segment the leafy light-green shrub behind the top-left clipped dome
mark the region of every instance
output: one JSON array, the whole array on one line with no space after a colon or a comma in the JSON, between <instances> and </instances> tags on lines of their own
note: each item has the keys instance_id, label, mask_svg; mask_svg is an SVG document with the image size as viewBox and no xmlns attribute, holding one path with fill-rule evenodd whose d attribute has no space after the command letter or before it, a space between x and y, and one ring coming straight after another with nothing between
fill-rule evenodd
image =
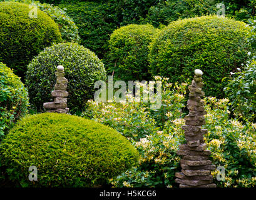
<instances>
[{"instance_id":1,"label":"leafy light-green shrub behind the top-left clipped dome","mask_svg":"<svg viewBox=\"0 0 256 200\"><path fill-rule=\"evenodd\" d=\"M60 9L58 6L52 4L41 4L39 1L33 0L11 0L14 2L23 2L37 6L41 11L46 12L59 26L61 37L66 42L79 42L80 37L78 35L78 27L74 24L73 19L66 14L64 9Z\"/></svg>"}]
</instances>

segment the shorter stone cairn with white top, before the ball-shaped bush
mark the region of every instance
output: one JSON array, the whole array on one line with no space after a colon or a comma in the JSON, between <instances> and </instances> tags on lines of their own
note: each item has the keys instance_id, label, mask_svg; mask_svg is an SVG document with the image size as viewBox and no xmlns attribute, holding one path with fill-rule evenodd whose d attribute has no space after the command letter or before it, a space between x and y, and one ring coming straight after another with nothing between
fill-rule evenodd
<instances>
[{"instance_id":1,"label":"shorter stone cairn with white top, before the ball-shaped bush","mask_svg":"<svg viewBox=\"0 0 256 200\"><path fill-rule=\"evenodd\" d=\"M57 71L55 73L57 77L56 84L54 86L54 91L51 92L51 96L53 96L54 101L44 103L44 109L46 109L47 113L68 113L69 109L67 108L67 97L68 92L67 84L68 79L64 78L64 68L63 66L58 66Z\"/></svg>"}]
</instances>

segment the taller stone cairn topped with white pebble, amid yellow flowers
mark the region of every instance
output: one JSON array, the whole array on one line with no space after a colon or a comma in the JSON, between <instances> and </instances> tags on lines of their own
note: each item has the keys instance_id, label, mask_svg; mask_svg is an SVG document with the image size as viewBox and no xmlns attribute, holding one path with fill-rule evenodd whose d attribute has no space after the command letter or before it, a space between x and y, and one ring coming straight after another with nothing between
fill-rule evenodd
<instances>
[{"instance_id":1,"label":"taller stone cairn topped with white pebble, amid yellow flowers","mask_svg":"<svg viewBox=\"0 0 256 200\"><path fill-rule=\"evenodd\" d=\"M207 144L204 143L203 134L207 134L207 129L202 129L205 124L206 114L204 101L201 98L205 95L202 92L203 79L202 71L195 70L195 76L192 85L188 86L190 91L187 103L189 114L185 116L186 125L182 126L185 131L187 144L182 144L178 155L183 156L181 159L182 172L176 173L175 182L180 187L216 187L213 183L211 171L215 170L215 165L208 160L210 151L205 150Z\"/></svg>"}]
</instances>

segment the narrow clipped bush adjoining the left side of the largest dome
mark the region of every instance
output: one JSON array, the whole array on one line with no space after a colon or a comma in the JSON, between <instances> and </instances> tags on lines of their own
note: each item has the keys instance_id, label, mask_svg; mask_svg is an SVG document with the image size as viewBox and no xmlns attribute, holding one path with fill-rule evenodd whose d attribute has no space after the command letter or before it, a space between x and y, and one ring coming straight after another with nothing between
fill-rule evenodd
<instances>
[{"instance_id":1,"label":"narrow clipped bush adjoining the left side of the largest dome","mask_svg":"<svg viewBox=\"0 0 256 200\"><path fill-rule=\"evenodd\" d=\"M125 81L149 79L148 45L158 29L131 24L116 29L110 36L111 71Z\"/></svg>"}]
</instances>

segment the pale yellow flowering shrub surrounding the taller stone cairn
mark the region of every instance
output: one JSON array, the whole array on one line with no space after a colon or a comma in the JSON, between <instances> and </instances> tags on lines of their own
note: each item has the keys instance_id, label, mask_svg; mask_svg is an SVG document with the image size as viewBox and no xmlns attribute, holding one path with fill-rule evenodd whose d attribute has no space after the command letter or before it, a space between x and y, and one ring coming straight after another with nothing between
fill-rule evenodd
<instances>
[{"instance_id":1,"label":"pale yellow flowering shrub surrounding the taller stone cairn","mask_svg":"<svg viewBox=\"0 0 256 200\"><path fill-rule=\"evenodd\" d=\"M157 77L157 79L161 79ZM148 103L88 102L83 113L118 130L130 139L140 153L139 166L111 179L115 187L177 187L175 173L180 171L180 144L185 143L182 125L186 115L187 84L168 84L162 79L162 106L149 110ZM230 119L228 99L205 98L208 129L205 141L212 151L210 159L225 168L225 181L218 187L250 187L256 184L256 124Z\"/></svg>"}]
</instances>

